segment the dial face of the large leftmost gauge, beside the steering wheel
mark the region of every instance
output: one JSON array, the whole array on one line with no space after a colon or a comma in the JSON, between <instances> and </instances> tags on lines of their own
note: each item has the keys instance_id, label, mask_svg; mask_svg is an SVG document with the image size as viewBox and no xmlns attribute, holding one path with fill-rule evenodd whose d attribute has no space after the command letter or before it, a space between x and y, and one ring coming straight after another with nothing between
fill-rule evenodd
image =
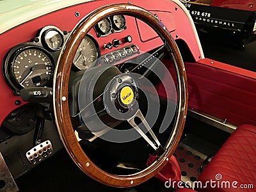
<instances>
[{"instance_id":1,"label":"dial face of the large leftmost gauge, beside the steering wheel","mask_svg":"<svg viewBox=\"0 0 256 192\"><path fill-rule=\"evenodd\" d=\"M22 47L15 51L7 61L5 76L19 88L46 86L53 75L51 56L40 47ZM13 82L14 81L14 82Z\"/></svg>"}]
</instances>

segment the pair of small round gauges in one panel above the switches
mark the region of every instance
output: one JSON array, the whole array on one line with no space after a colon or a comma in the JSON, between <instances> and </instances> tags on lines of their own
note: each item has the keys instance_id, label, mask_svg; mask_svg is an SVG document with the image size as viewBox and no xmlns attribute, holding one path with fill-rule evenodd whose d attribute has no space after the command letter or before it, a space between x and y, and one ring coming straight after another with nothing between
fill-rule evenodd
<instances>
[{"instance_id":1,"label":"pair of small round gauges in one panel above the switches","mask_svg":"<svg viewBox=\"0 0 256 192\"><path fill-rule=\"evenodd\" d=\"M122 32L126 28L127 26L124 15L114 15L103 19L94 27L98 37L108 36L111 33Z\"/></svg>"}]
</instances>

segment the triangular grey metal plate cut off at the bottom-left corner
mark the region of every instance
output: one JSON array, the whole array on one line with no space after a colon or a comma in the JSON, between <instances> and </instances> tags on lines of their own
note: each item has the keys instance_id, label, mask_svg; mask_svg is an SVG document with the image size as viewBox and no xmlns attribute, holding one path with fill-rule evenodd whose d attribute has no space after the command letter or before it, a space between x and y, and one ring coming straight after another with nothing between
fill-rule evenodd
<instances>
[{"instance_id":1,"label":"triangular grey metal plate cut off at the bottom-left corner","mask_svg":"<svg viewBox=\"0 0 256 192\"><path fill-rule=\"evenodd\" d=\"M0 152L0 192L2 191L16 192L19 189Z\"/></svg>"}]
</instances>

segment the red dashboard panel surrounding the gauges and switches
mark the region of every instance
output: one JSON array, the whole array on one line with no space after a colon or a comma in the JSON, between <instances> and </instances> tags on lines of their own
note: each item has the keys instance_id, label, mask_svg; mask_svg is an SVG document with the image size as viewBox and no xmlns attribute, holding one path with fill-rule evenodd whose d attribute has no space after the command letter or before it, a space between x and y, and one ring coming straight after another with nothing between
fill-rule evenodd
<instances>
[{"instance_id":1,"label":"red dashboard panel surrounding the gauges and switches","mask_svg":"<svg viewBox=\"0 0 256 192\"><path fill-rule=\"evenodd\" d=\"M56 12L30 20L29 22L20 24L20 26L17 26L16 28L6 31L0 35L0 61L4 61L4 57L12 47L24 42L31 42L31 40L33 40L33 38L38 34L38 31L45 26L56 26L61 31L72 31L74 26L76 26L84 15L90 13L96 8L99 8L100 6L103 6L104 4L110 3L120 3L120 1L93 1L78 4L63 10L56 10ZM156 17L159 17L159 19L162 20L175 38L181 38L188 44L195 60L202 58L190 21L186 17L185 13L178 8L177 4L171 1L163 1L161 4L134 1L134 4L143 6L143 8L146 8L147 10L150 10L150 12L156 14ZM175 14L173 14L174 12ZM123 41L118 48L113 47L111 50L103 49L104 44L112 42L113 39L123 40L125 36L128 35L132 36L132 44L138 46L141 51L147 52L161 45L161 41L157 38L156 33L152 31L152 29L148 29L148 27L141 23L140 20L136 20L132 17L125 17L125 19L127 29L120 33L112 33L106 37L97 37L94 29L90 31L92 36L97 40L102 55L129 45ZM182 25L178 25L175 20L182 22ZM186 26L186 31L184 31L183 26ZM4 118L6 118L8 114L10 114L14 109L26 104L26 102L22 101L19 95L13 95L13 90L4 80L3 74L0 75L0 86L0 99L4 100L4 102L1 102L0 104L0 124L2 124Z\"/></svg>"}]
</instances>

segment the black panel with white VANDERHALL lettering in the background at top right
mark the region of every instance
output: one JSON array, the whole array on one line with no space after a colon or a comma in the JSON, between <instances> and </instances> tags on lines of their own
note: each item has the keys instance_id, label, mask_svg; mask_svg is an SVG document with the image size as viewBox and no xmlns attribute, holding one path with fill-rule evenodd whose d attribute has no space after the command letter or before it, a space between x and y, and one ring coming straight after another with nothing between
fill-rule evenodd
<instances>
[{"instance_id":1,"label":"black panel with white VANDERHALL lettering in the background at top right","mask_svg":"<svg viewBox=\"0 0 256 192\"><path fill-rule=\"evenodd\" d=\"M210 0L180 0L188 8L195 24L232 31L255 32L255 12L211 6Z\"/></svg>"}]
</instances>

